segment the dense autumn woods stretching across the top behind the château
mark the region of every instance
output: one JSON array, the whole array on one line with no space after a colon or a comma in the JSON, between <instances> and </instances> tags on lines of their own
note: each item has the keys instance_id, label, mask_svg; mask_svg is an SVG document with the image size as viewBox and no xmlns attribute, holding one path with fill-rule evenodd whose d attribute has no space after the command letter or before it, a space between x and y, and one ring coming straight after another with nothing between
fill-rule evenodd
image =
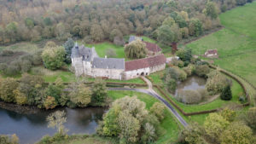
<instances>
[{"instance_id":1,"label":"dense autumn woods stretching across the top behind the ch\u00e2teau","mask_svg":"<svg viewBox=\"0 0 256 144\"><path fill-rule=\"evenodd\" d=\"M218 13L247 1L1 0L0 44L53 37L78 37L90 43L129 33L156 38L166 18L172 18L172 30L182 37L198 36L219 26ZM175 42L180 39L173 37Z\"/></svg>"}]
</instances>

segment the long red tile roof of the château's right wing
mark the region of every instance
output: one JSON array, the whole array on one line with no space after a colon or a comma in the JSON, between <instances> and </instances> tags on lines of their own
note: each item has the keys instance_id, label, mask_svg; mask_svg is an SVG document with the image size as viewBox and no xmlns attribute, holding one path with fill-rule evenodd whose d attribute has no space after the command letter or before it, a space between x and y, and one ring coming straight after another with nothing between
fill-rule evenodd
<instances>
[{"instance_id":1,"label":"long red tile roof of the ch\u00e2teau's right wing","mask_svg":"<svg viewBox=\"0 0 256 144\"><path fill-rule=\"evenodd\" d=\"M151 66L159 66L165 63L165 55L155 55L144 59L125 61L125 71L133 71Z\"/></svg>"}]
</instances>

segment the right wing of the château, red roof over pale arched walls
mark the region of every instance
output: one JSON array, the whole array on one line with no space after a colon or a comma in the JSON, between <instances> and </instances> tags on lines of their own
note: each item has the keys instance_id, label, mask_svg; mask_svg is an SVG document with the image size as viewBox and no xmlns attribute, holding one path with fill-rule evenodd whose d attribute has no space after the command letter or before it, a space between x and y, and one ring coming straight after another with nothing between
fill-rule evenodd
<instances>
[{"instance_id":1,"label":"right wing of the ch\u00e2teau, red roof over pale arched walls","mask_svg":"<svg viewBox=\"0 0 256 144\"><path fill-rule=\"evenodd\" d=\"M157 72L165 68L165 55L155 55L144 59L125 61L124 79L149 75L149 73Z\"/></svg>"}]
</instances>

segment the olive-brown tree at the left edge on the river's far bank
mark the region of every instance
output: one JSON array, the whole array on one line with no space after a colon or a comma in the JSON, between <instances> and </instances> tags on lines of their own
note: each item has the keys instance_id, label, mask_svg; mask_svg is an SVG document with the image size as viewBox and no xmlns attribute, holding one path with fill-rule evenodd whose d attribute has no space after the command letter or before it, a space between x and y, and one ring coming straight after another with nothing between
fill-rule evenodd
<instances>
[{"instance_id":1,"label":"olive-brown tree at the left edge on the river's far bank","mask_svg":"<svg viewBox=\"0 0 256 144\"><path fill-rule=\"evenodd\" d=\"M0 79L0 98L6 102L15 102L14 90L19 83L14 78Z\"/></svg>"}]
</instances>

